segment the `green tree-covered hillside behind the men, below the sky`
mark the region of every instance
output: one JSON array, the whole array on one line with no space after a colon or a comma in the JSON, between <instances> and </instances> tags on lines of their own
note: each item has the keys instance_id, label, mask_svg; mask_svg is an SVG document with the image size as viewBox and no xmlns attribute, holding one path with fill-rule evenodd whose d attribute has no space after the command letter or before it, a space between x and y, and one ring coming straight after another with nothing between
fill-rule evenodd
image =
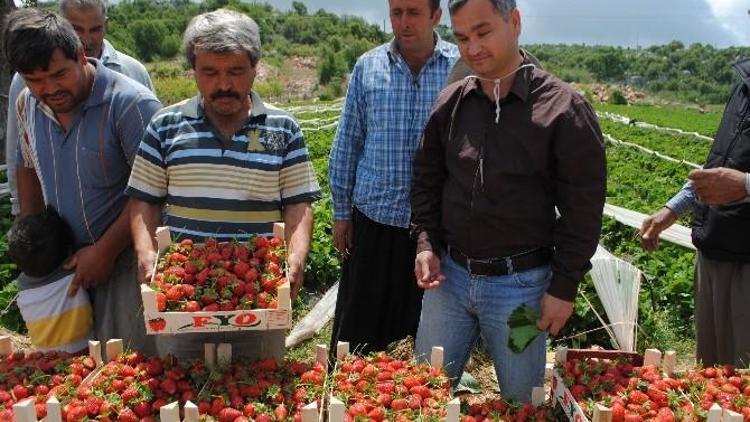
<instances>
[{"instance_id":1,"label":"green tree-covered hillside behind the men, below the sky","mask_svg":"<svg viewBox=\"0 0 750 422\"><path fill-rule=\"evenodd\" d=\"M25 4L33 5L34 0ZM56 7L55 3L40 4ZM196 14L227 7L253 17L261 29L264 60L280 66L290 56L318 58L318 77L329 96L341 95L357 58L390 34L361 17L309 11L301 1L282 11L262 1L124 0L109 8L108 39L138 59L170 60L180 53L182 32ZM453 41L450 29L438 28ZM567 82L617 83L681 101L721 104L737 75L731 63L748 47L685 46L679 41L646 48L534 44L525 46L545 68Z\"/></svg>"}]
</instances>

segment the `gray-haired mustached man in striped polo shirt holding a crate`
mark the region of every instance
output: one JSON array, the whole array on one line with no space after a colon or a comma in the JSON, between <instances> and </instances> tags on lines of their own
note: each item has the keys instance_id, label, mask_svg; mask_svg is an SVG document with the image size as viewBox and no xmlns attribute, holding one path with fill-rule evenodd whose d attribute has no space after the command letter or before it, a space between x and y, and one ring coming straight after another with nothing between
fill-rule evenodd
<instances>
[{"instance_id":1,"label":"gray-haired mustached man in striped polo shirt holding a crate","mask_svg":"<svg viewBox=\"0 0 750 422\"><path fill-rule=\"evenodd\" d=\"M260 59L258 26L220 9L193 18L183 43L200 94L151 121L126 189L139 277L150 278L163 209L173 236L196 242L270 235L273 223L283 221L294 298L312 236L311 203L320 198L320 187L295 120L252 90ZM181 334L160 339L157 347L198 357L203 343L232 343L233 355L257 357L268 354L269 344L283 353L283 335Z\"/></svg>"}]
</instances>

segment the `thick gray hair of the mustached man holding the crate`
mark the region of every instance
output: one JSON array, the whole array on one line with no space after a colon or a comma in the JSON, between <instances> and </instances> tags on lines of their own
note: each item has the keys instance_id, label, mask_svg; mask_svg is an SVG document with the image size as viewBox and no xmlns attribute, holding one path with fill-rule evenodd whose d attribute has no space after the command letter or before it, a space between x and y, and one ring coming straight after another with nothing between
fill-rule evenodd
<instances>
[{"instance_id":1,"label":"thick gray hair of the mustached man holding the crate","mask_svg":"<svg viewBox=\"0 0 750 422\"><path fill-rule=\"evenodd\" d=\"M256 65L260 60L260 30L249 16L218 9L190 20L182 47L191 67L195 67L195 50L220 54L244 52Z\"/></svg>"}]
</instances>

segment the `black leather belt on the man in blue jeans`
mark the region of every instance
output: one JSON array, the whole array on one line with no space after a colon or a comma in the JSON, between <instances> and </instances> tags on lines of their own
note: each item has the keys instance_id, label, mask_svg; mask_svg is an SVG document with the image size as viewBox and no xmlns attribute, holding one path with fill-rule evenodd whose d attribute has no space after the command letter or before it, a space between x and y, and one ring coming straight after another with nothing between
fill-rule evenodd
<instances>
[{"instance_id":1,"label":"black leather belt on the man in blue jeans","mask_svg":"<svg viewBox=\"0 0 750 422\"><path fill-rule=\"evenodd\" d=\"M552 250L538 248L504 258L472 259L456 248L448 246L448 255L472 275L508 275L547 264Z\"/></svg>"}]
</instances>

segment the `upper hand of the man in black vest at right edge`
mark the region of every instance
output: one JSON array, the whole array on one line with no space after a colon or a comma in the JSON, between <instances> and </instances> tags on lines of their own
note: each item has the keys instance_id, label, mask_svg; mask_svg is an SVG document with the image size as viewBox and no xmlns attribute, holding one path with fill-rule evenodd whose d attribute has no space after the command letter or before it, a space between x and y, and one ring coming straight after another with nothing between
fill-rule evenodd
<instances>
[{"instance_id":1,"label":"upper hand of the man in black vest at right edge","mask_svg":"<svg viewBox=\"0 0 750 422\"><path fill-rule=\"evenodd\" d=\"M693 181L697 198L707 205L728 204L747 196L745 173L719 167L708 170L693 170L688 174Z\"/></svg>"}]
</instances>

